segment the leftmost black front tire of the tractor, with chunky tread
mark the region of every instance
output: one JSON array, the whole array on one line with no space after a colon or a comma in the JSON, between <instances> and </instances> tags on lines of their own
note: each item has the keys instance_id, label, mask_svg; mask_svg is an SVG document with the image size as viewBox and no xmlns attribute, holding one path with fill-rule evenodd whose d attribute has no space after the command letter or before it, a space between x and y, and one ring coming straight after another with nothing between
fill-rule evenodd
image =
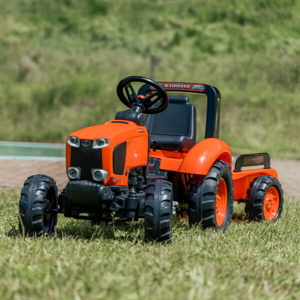
<instances>
[{"instance_id":1,"label":"leftmost black front tire of the tractor, with chunky tread","mask_svg":"<svg viewBox=\"0 0 300 300\"><path fill-rule=\"evenodd\" d=\"M57 213L46 213L58 207L55 180L47 175L32 175L25 180L19 200L19 231L24 235L50 234L57 223Z\"/></svg>"}]
</instances>

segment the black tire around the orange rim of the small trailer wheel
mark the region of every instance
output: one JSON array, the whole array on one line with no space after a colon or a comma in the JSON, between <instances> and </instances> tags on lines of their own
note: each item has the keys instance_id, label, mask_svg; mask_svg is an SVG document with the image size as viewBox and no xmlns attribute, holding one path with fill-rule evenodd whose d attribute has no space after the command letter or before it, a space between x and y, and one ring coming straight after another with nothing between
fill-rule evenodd
<instances>
[{"instance_id":1,"label":"black tire around the orange rim of the small trailer wheel","mask_svg":"<svg viewBox=\"0 0 300 300\"><path fill-rule=\"evenodd\" d=\"M277 189L279 195L279 207L276 216L271 221L276 221L280 217L283 209L283 190L281 184L272 176L262 175L256 177L247 189L245 212L249 220L265 220L263 201L266 191L271 186Z\"/></svg>"}]
</instances>

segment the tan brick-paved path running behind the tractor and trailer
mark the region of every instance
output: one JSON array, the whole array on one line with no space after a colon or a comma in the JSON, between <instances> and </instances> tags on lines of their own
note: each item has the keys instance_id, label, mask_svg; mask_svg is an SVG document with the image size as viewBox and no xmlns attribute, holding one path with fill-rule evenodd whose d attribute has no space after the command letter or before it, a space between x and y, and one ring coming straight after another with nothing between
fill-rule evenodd
<instances>
[{"instance_id":1,"label":"tan brick-paved path running behind the tractor and trailer","mask_svg":"<svg viewBox=\"0 0 300 300\"><path fill-rule=\"evenodd\" d=\"M300 198L300 161L273 158L271 166L278 172L284 196ZM65 164L61 160L0 160L0 187L21 188L24 180L32 174L52 176L59 189L67 182Z\"/></svg>"}]
</instances>

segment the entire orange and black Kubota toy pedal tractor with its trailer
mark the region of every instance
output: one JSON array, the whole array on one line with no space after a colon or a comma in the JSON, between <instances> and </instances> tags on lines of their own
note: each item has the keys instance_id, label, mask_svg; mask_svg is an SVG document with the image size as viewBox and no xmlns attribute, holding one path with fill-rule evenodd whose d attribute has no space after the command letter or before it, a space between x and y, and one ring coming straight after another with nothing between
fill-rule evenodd
<instances>
[{"instance_id":1,"label":"entire orange and black Kubota toy pedal tractor with its trailer","mask_svg":"<svg viewBox=\"0 0 300 300\"><path fill-rule=\"evenodd\" d=\"M142 83L137 93L132 82ZM196 111L188 97L166 91L206 94L203 140L195 142ZM57 213L93 222L109 221L113 213L122 221L144 218L145 239L163 241L171 238L172 217L185 207L190 224L226 228L233 200L246 202L250 219L280 216L282 189L267 153L240 155L231 172L231 150L218 139L217 88L130 76L118 83L117 95L130 109L68 135L69 181L59 196L50 176L24 182L19 228L25 234L51 233ZM264 167L241 170L252 165Z\"/></svg>"}]
</instances>

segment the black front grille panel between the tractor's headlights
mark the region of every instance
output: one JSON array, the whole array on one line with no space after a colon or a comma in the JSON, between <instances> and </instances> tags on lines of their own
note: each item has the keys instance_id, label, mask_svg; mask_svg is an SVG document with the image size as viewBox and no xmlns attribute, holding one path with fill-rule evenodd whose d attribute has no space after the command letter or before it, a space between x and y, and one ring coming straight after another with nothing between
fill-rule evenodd
<instances>
[{"instance_id":1,"label":"black front grille panel between the tractor's headlights","mask_svg":"<svg viewBox=\"0 0 300 300\"><path fill-rule=\"evenodd\" d=\"M88 146L83 146L83 141L89 141ZM78 148L71 147L70 166L79 166L81 169L80 179L92 180L91 169L102 168L102 149L92 148L92 139L80 139ZM85 142L86 144L86 142Z\"/></svg>"}]
</instances>

